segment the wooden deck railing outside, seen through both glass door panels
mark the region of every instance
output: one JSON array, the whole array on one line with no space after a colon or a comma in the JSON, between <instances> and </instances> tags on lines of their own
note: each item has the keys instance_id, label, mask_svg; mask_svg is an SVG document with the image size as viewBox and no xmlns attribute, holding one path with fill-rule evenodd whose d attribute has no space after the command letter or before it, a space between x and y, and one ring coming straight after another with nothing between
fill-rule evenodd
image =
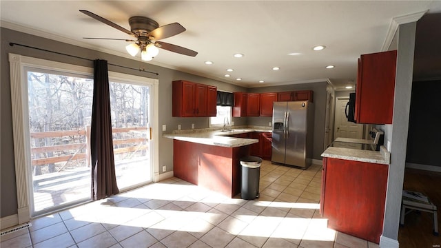
<instances>
[{"instance_id":1,"label":"wooden deck railing outside, seen through both glass door panels","mask_svg":"<svg viewBox=\"0 0 441 248\"><path fill-rule=\"evenodd\" d=\"M147 127L115 127L112 128L112 133L123 132L146 132ZM32 147L31 154L48 154L48 152L61 152L65 150L74 150L74 154L64 156L52 156L45 158L33 158L32 165L48 165L51 163L68 163L72 160L85 159L87 165L90 166L90 126L84 130L70 130L70 131L53 131L53 132L31 132L30 138L61 138L65 136L85 136L85 143L72 143L67 145L50 145L45 147ZM130 143L137 143L138 145L131 145L128 147L114 149L114 154L122 154L125 152L138 152L147 150L148 145L143 144L146 138L121 138L113 141L114 145L124 145ZM86 148L86 152L81 152Z\"/></svg>"}]
</instances>

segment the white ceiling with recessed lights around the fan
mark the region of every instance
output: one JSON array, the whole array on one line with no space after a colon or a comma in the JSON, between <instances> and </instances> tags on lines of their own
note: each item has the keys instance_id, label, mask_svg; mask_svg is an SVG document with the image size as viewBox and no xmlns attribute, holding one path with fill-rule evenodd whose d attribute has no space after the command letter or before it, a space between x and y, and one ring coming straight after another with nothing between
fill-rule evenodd
<instances>
[{"instance_id":1,"label":"white ceiling with recessed lights around the fan","mask_svg":"<svg viewBox=\"0 0 441 248\"><path fill-rule=\"evenodd\" d=\"M161 50L150 63L245 87L326 80L343 87L356 81L360 54L380 52L389 45L394 18L441 10L441 1L1 0L0 4L2 27L136 60L141 59L125 52L125 41L82 39L131 37L79 10L94 12L127 30L127 20L136 15L159 25L181 23L187 31L163 41L198 55ZM327 48L316 52L314 45ZM234 58L237 52L245 56ZM293 52L298 55L288 55ZM327 65L335 68L325 69ZM280 70L271 70L274 66ZM229 78L224 76L227 68L234 69ZM237 77L243 80L236 81Z\"/></svg>"}]
</instances>

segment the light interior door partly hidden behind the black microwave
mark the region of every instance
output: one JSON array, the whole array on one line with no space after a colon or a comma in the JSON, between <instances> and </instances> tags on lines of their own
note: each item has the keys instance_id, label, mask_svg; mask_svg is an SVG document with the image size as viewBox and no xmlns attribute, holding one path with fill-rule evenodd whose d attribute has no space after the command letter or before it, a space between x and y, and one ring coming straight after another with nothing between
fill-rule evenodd
<instances>
[{"instance_id":1,"label":"light interior door partly hidden behind the black microwave","mask_svg":"<svg viewBox=\"0 0 441 248\"><path fill-rule=\"evenodd\" d=\"M349 101L349 97L338 98L336 101L336 123L334 129L334 140L338 137L342 138L362 138L363 135L363 125L356 124L347 121L345 115L346 104ZM347 148L358 148L358 144L350 143L334 143L336 147L347 147Z\"/></svg>"}]
</instances>

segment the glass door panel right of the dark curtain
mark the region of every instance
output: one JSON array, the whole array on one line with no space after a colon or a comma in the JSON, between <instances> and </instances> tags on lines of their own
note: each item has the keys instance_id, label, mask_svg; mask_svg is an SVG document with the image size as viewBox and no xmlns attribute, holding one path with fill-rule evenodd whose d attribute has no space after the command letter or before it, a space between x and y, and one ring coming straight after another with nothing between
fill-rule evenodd
<instances>
[{"instance_id":1,"label":"glass door panel right of the dark curtain","mask_svg":"<svg viewBox=\"0 0 441 248\"><path fill-rule=\"evenodd\" d=\"M116 183L120 190L152 181L152 87L110 83Z\"/></svg>"}]
</instances>

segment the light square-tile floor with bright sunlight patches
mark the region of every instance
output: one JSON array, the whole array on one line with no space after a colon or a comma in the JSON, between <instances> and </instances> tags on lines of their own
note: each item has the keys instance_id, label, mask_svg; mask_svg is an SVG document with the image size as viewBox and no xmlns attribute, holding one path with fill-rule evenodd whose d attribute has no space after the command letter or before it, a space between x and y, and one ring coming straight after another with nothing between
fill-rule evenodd
<instances>
[{"instance_id":1,"label":"light square-tile floor with bright sunlight patches","mask_svg":"<svg viewBox=\"0 0 441 248\"><path fill-rule=\"evenodd\" d=\"M32 220L0 247L378 247L327 228L321 166L260 169L260 197L227 198L169 178Z\"/></svg>"}]
</instances>

